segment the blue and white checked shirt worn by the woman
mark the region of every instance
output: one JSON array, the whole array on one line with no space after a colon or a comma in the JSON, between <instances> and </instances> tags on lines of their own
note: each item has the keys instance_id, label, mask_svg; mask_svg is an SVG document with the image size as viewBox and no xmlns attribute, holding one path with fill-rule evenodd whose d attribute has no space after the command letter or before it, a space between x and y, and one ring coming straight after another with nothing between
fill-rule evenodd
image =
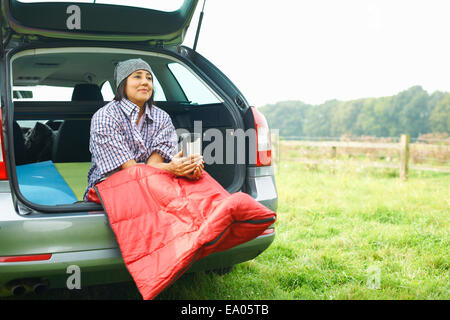
<instances>
[{"instance_id":1,"label":"blue and white checked shirt worn by the woman","mask_svg":"<svg viewBox=\"0 0 450 320\"><path fill-rule=\"evenodd\" d=\"M129 160L146 162L153 151L170 162L177 148L177 134L170 116L160 108L146 106L142 127L136 125L139 107L127 99L111 101L91 120L89 150L92 154L88 190Z\"/></svg>"}]
</instances>

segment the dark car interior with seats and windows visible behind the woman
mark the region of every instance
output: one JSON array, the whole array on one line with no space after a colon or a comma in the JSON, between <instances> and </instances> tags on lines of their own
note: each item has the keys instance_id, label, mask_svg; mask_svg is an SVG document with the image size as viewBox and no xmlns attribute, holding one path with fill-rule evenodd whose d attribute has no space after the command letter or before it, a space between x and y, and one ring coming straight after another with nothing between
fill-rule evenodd
<instances>
[{"instance_id":1,"label":"dark car interior with seats and windows visible behind the woman","mask_svg":"<svg viewBox=\"0 0 450 320\"><path fill-rule=\"evenodd\" d=\"M32 99L13 101L15 163L51 161L57 167L84 163L88 168L91 117L113 98L115 64L133 56L120 50L96 53L92 48L54 51L23 52L13 58L13 89L33 92ZM194 132L195 121L201 121L202 134L214 128L226 137L227 129L235 129L229 106L187 65L169 55L142 52L137 56L152 67L155 105L170 115L176 129ZM203 141L203 149L208 143ZM224 158L226 152L224 147ZM233 164L207 163L205 170L224 188L233 182Z\"/></svg>"}]
</instances>

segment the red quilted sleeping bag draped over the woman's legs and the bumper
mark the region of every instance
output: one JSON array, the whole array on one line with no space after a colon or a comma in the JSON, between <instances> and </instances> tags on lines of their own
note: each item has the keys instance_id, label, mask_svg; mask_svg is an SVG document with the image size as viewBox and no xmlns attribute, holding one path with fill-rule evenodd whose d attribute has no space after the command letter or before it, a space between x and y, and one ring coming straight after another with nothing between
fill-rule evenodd
<instances>
[{"instance_id":1,"label":"red quilted sleeping bag draped over the woman's legs and the bumper","mask_svg":"<svg viewBox=\"0 0 450 320\"><path fill-rule=\"evenodd\" d=\"M196 260L256 238L276 219L248 194L228 193L206 171L189 180L139 164L95 189L88 200L103 205L144 299L153 299Z\"/></svg>"}]
</instances>

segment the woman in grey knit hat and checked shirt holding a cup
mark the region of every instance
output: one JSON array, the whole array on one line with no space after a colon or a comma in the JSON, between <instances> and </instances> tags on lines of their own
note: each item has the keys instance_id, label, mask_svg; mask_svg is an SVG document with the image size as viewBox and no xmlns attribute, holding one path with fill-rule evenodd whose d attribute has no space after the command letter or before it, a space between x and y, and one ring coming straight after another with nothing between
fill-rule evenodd
<instances>
[{"instance_id":1,"label":"woman in grey knit hat and checked shirt holding a cup","mask_svg":"<svg viewBox=\"0 0 450 320\"><path fill-rule=\"evenodd\" d=\"M175 156L177 135L169 115L153 105L153 75L142 59L119 62L114 70L114 100L99 109L91 120L89 149L92 154L88 190L109 175L137 163L146 163L176 176L199 179L200 155Z\"/></svg>"}]
</instances>

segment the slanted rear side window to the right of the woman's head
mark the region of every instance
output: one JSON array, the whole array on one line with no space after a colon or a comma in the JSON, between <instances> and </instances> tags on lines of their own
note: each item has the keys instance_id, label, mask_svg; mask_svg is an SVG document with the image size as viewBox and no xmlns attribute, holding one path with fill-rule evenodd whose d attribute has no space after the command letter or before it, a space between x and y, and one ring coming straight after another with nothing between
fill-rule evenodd
<instances>
[{"instance_id":1,"label":"slanted rear side window to the right of the woman's head","mask_svg":"<svg viewBox=\"0 0 450 320\"><path fill-rule=\"evenodd\" d=\"M202 105L222 102L210 88L185 66L174 62L169 63L168 68L178 81L190 103Z\"/></svg>"}]
</instances>

